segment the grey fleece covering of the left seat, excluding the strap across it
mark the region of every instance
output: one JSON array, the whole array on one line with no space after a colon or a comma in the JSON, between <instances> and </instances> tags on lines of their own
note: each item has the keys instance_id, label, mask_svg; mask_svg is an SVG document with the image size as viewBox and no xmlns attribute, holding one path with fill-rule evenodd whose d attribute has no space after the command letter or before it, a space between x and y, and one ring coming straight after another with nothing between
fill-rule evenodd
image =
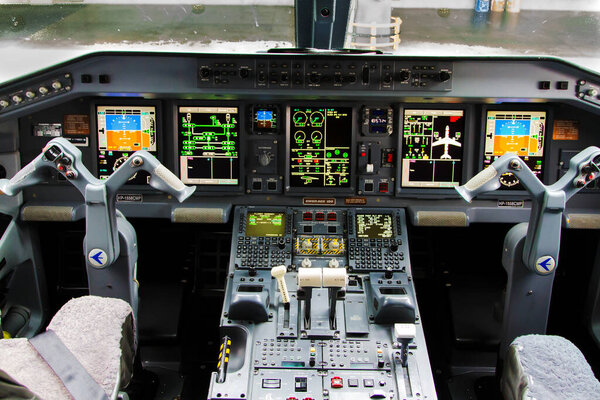
<instances>
[{"instance_id":1,"label":"grey fleece covering of the left seat, excluding the strap across it","mask_svg":"<svg viewBox=\"0 0 600 400\"><path fill-rule=\"evenodd\" d=\"M132 310L125 301L97 296L72 299L47 329L56 333L109 398L127 386L136 342ZM0 340L0 370L40 399L72 399L27 339ZM4 384L3 389L0 379L0 398L9 386Z\"/></svg>"}]
</instances>

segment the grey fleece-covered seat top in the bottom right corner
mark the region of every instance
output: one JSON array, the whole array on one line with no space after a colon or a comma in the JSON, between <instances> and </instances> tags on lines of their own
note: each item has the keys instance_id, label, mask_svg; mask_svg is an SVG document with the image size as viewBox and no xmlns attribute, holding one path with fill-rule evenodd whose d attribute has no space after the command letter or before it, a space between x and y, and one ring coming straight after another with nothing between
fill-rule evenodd
<instances>
[{"instance_id":1,"label":"grey fleece-covered seat top in the bottom right corner","mask_svg":"<svg viewBox=\"0 0 600 400\"><path fill-rule=\"evenodd\" d=\"M506 400L600 400L600 382L567 339L526 335L509 347L502 393Z\"/></svg>"}]
</instances>

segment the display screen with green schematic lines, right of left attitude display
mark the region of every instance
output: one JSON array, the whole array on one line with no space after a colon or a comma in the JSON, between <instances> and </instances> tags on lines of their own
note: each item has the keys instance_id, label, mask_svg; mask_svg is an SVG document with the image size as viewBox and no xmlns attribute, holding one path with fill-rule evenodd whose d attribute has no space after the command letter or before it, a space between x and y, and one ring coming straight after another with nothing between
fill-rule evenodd
<instances>
[{"instance_id":1,"label":"display screen with green schematic lines, right of left attitude display","mask_svg":"<svg viewBox=\"0 0 600 400\"><path fill-rule=\"evenodd\" d=\"M237 107L179 107L179 167L183 183L237 185Z\"/></svg>"}]
</instances>

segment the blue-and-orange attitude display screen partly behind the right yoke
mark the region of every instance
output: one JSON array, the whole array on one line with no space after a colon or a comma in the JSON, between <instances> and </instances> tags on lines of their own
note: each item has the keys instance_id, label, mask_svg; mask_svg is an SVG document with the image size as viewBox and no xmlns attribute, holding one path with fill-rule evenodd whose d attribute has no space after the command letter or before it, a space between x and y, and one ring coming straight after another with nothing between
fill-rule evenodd
<instances>
[{"instance_id":1,"label":"blue-and-orange attitude display screen partly behind the right yoke","mask_svg":"<svg viewBox=\"0 0 600 400\"><path fill-rule=\"evenodd\" d=\"M514 153L541 179L545 132L545 111L488 111L483 166L488 167L506 153ZM500 183L504 189L524 189L510 172L500 176Z\"/></svg>"}]
</instances>

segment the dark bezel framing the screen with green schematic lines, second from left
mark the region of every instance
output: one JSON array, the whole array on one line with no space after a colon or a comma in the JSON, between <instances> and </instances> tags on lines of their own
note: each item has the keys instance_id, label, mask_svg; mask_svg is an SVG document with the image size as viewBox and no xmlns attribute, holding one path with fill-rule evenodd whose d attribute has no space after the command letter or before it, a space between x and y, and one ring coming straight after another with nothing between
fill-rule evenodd
<instances>
[{"instance_id":1,"label":"dark bezel framing the screen with green schematic lines, second from left","mask_svg":"<svg viewBox=\"0 0 600 400\"><path fill-rule=\"evenodd\" d=\"M179 125L177 119L179 118L179 107L225 107L223 104L227 103L227 107L237 107L239 120L239 152L238 152L238 183L236 185L201 185L196 183L185 183L189 186L196 186L202 188L202 192L229 192L231 194L239 194L244 188L244 160L245 160L245 149L246 139L244 134L245 121L245 110L244 103L239 101L220 101L220 102L207 102L207 101L178 101L173 104L173 154L174 154L174 168L175 175L181 179L181 162L179 159ZM196 191L195 195L198 195L199 191Z\"/></svg>"}]
</instances>

